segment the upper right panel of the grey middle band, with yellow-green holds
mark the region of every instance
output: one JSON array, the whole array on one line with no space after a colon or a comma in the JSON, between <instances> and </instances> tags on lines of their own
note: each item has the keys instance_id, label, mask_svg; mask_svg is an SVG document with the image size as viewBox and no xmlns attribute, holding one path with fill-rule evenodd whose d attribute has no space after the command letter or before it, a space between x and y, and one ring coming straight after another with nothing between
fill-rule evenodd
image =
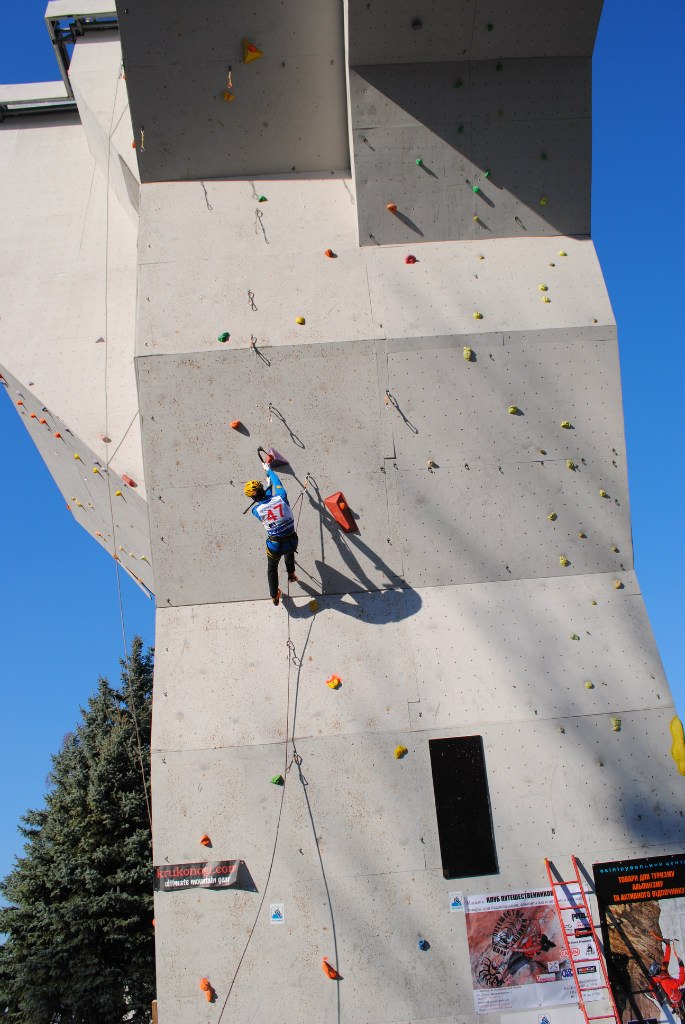
<instances>
[{"instance_id":1,"label":"upper right panel of the grey middle band, with yellow-green holds","mask_svg":"<svg viewBox=\"0 0 685 1024\"><path fill-rule=\"evenodd\" d=\"M414 427L386 407L401 469L423 469L428 458L449 468L473 459L580 463L625 454L614 342L502 346L495 336L474 342L467 361L464 339L440 341L449 345L415 339L414 351L392 351L387 342L390 392ZM509 413L514 406L518 415Z\"/></svg>"}]
</instances>

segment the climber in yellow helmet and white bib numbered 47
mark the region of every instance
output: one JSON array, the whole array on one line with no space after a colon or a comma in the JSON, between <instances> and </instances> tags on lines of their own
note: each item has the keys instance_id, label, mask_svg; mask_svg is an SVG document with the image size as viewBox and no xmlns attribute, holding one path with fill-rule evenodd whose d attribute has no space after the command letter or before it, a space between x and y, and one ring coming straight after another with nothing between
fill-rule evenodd
<instances>
[{"instance_id":1,"label":"climber in yellow helmet and white bib numbered 47","mask_svg":"<svg viewBox=\"0 0 685 1024\"><path fill-rule=\"evenodd\" d=\"M295 575L297 534L286 488L269 466L269 461L267 457L267 461L262 463L268 485L264 487L260 480L248 480L244 490L254 502L252 514L266 529L266 577L271 600L274 604L279 604L281 601L279 562L282 555L286 559L289 583L297 582Z\"/></svg>"}]
</instances>

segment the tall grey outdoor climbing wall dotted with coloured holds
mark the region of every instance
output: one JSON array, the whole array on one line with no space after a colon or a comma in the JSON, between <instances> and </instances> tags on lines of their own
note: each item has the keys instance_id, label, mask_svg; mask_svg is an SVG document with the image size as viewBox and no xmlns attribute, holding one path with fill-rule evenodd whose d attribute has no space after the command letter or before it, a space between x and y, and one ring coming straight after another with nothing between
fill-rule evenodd
<instances>
[{"instance_id":1,"label":"tall grey outdoor climbing wall dotted with coloured holds","mask_svg":"<svg viewBox=\"0 0 685 1024\"><path fill-rule=\"evenodd\" d=\"M154 564L154 858L178 882L156 892L160 1024L581 1024L572 996L475 1013L463 898L545 891L545 857L565 874L682 844L590 238L600 7L153 0L119 7L112 106L114 50L75 60L105 172L108 110L130 104L137 175L111 182L99 252L111 323L135 295L115 404L140 471L102 473L91 361L63 385L94 410L79 434L35 348L5 384L75 515L104 523L114 487L113 553L147 587ZM92 360L87 310L62 347ZM259 445L300 539L275 607L243 492ZM482 766L432 758L469 737ZM180 884L236 861L230 885Z\"/></svg>"}]
</instances>

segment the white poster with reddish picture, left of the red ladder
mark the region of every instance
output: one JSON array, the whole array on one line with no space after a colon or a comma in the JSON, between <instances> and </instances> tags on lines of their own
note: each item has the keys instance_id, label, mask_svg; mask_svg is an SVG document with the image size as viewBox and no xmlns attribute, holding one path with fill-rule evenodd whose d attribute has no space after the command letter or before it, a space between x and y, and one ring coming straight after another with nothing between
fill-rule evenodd
<instances>
[{"instance_id":1,"label":"white poster with reddish picture, left of the red ladder","mask_svg":"<svg viewBox=\"0 0 685 1024\"><path fill-rule=\"evenodd\" d=\"M477 1014L577 1001L549 889L468 896L465 905Z\"/></svg>"}]
</instances>

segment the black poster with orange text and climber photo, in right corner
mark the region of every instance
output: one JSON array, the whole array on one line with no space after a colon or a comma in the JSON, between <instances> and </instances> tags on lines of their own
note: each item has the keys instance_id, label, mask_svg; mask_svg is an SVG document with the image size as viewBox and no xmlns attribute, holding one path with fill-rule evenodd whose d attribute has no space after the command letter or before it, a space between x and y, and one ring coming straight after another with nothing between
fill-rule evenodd
<instances>
[{"instance_id":1,"label":"black poster with orange text and climber photo, in right corner","mask_svg":"<svg viewBox=\"0 0 685 1024\"><path fill-rule=\"evenodd\" d=\"M593 864L624 1024L685 1021L685 854Z\"/></svg>"}]
</instances>

